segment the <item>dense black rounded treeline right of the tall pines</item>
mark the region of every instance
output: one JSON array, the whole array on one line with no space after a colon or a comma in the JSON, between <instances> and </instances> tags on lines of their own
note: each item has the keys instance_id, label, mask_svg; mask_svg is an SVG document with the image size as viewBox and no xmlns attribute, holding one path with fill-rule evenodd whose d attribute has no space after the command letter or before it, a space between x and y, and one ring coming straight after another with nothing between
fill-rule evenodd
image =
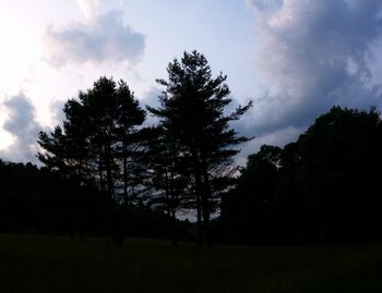
<instances>
[{"instance_id":1,"label":"dense black rounded treeline right of the tall pines","mask_svg":"<svg viewBox=\"0 0 382 293\"><path fill-rule=\"evenodd\" d=\"M381 150L380 113L339 107L319 117L297 142L262 146L224 197L217 225L225 241L381 241Z\"/></svg>"}]
</instances>

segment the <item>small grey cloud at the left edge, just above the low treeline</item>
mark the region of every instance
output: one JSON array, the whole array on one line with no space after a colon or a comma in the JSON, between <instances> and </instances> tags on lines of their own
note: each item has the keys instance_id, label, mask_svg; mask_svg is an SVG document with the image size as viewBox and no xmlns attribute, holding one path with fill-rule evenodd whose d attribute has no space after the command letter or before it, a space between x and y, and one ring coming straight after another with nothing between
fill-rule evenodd
<instances>
[{"instance_id":1,"label":"small grey cloud at the left edge, just above the low treeline","mask_svg":"<svg viewBox=\"0 0 382 293\"><path fill-rule=\"evenodd\" d=\"M37 162L36 139L43 127L36 121L31 100L24 94L19 94L7 99L2 107L8 112L2 129L12 134L14 141L5 150L0 151L0 157L11 161Z\"/></svg>"}]
</instances>

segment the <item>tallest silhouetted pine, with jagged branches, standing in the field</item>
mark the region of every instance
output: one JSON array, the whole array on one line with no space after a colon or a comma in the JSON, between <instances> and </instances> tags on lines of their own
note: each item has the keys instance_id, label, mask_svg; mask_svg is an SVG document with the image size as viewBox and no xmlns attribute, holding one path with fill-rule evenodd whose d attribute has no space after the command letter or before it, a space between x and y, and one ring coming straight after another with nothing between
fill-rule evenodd
<instances>
[{"instance_id":1,"label":"tallest silhouetted pine, with jagged branches, standing in the field","mask_svg":"<svg viewBox=\"0 0 382 293\"><path fill-rule=\"evenodd\" d=\"M237 136L229 122L240 119L251 103L225 114L231 102L225 84L227 77L220 73L213 78L206 58L196 51L184 52L180 61L175 59L167 72L168 81L157 80L165 87L159 96L160 107L148 107L148 111L159 118L160 127L181 146L182 156L189 158L200 241L210 244L210 217L215 199L227 188L224 180L216 179L224 176L222 169L228 168L239 152L232 146L248 141Z\"/></svg>"}]
</instances>

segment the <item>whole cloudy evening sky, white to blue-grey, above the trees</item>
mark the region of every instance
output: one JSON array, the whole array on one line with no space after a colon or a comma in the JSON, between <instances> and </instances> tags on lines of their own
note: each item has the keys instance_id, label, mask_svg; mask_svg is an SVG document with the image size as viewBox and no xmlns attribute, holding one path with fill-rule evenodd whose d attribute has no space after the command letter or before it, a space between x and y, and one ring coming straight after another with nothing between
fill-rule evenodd
<instances>
[{"instance_id":1,"label":"whole cloudy evening sky, white to blue-grey, above the trees","mask_svg":"<svg viewBox=\"0 0 382 293\"><path fill-rule=\"evenodd\" d=\"M100 75L153 103L166 66L196 49L228 75L235 127L295 139L334 105L381 109L381 0L1 0L0 158L34 161L39 130Z\"/></svg>"}]
</instances>

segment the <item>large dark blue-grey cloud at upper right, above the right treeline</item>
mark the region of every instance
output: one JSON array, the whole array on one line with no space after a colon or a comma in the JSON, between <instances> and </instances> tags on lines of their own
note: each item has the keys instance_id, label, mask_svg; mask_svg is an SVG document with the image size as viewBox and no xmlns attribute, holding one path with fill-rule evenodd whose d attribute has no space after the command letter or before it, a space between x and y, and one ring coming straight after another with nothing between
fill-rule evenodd
<instances>
[{"instance_id":1,"label":"large dark blue-grey cloud at upper right, above the right treeline","mask_svg":"<svg viewBox=\"0 0 382 293\"><path fill-rule=\"evenodd\" d=\"M305 130L334 105L381 107L382 78L372 70L381 54L380 0L247 2L261 41L255 66L268 89L241 129L276 142L273 134Z\"/></svg>"}]
</instances>

